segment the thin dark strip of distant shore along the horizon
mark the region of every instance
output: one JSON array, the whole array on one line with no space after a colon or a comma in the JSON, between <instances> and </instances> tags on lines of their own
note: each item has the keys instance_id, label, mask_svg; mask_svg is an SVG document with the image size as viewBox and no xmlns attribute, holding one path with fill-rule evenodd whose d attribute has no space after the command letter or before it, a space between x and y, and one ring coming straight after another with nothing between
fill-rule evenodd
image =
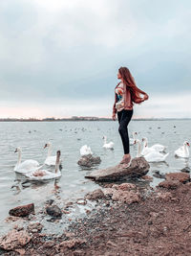
<instances>
[{"instance_id":1,"label":"thin dark strip of distant shore along the horizon","mask_svg":"<svg viewBox=\"0 0 191 256\"><path fill-rule=\"evenodd\" d=\"M132 121L167 121L167 120L191 120L191 118L133 118ZM112 118L99 117L72 117L72 118L0 118L0 122L78 122L78 121L113 121Z\"/></svg>"}]
</instances>

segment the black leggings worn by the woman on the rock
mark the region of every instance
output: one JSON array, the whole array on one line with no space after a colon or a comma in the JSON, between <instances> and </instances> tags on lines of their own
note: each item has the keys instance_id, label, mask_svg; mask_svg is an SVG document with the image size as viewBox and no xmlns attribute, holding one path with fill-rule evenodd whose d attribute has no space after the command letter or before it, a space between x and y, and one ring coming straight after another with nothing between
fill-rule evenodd
<instances>
[{"instance_id":1,"label":"black leggings worn by the woman on the rock","mask_svg":"<svg viewBox=\"0 0 191 256\"><path fill-rule=\"evenodd\" d=\"M119 124L118 132L122 140L124 153L129 153L129 134L128 134L127 126L131 121L132 115L133 115L133 109L132 110L122 109L121 111L117 112L117 118L118 118L118 124Z\"/></svg>"}]
</instances>

